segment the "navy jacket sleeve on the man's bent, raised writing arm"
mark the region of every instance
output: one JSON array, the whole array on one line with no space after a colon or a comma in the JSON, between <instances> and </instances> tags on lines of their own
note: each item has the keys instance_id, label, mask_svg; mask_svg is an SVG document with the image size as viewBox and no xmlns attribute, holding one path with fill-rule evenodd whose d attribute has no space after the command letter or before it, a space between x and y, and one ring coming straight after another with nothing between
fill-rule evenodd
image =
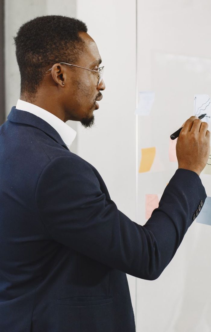
<instances>
[{"instance_id":1,"label":"navy jacket sleeve on the man's bent, raised writing arm","mask_svg":"<svg viewBox=\"0 0 211 332\"><path fill-rule=\"evenodd\" d=\"M106 199L89 164L70 156L44 168L35 198L55 241L111 268L155 280L174 257L206 193L195 172L177 169L142 226Z\"/></svg>"}]
</instances>

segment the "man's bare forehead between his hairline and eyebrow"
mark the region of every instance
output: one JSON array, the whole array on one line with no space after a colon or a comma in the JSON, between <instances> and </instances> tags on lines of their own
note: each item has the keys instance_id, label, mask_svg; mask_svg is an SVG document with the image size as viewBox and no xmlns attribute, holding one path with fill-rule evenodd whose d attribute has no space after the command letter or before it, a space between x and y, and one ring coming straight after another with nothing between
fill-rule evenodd
<instances>
[{"instance_id":1,"label":"man's bare forehead between his hairline and eyebrow","mask_svg":"<svg viewBox=\"0 0 211 332\"><path fill-rule=\"evenodd\" d=\"M96 42L86 32L79 32L78 34L85 42L85 49L81 56L81 60L86 61L89 65L92 62L101 58Z\"/></svg>"}]
</instances>

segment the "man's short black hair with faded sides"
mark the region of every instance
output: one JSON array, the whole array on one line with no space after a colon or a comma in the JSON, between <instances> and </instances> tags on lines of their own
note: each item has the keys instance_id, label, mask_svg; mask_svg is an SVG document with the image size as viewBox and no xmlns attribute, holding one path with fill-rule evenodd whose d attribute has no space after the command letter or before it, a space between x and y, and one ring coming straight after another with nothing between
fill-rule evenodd
<instances>
[{"instance_id":1,"label":"man's short black hair with faded sides","mask_svg":"<svg viewBox=\"0 0 211 332\"><path fill-rule=\"evenodd\" d=\"M19 28L13 39L21 74L21 94L35 96L45 71L54 63L77 62L84 50L84 41L78 32L87 32L86 24L61 15L38 16Z\"/></svg>"}]
</instances>

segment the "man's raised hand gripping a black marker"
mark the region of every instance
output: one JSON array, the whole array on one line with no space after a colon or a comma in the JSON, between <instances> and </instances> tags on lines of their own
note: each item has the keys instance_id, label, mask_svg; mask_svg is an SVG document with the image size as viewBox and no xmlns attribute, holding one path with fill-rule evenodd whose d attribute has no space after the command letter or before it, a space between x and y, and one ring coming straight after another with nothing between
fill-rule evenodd
<instances>
[{"instance_id":1,"label":"man's raised hand gripping a black marker","mask_svg":"<svg viewBox=\"0 0 211 332\"><path fill-rule=\"evenodd\" d=\"M200 175L210 155L208 124L192 116L181 127L176 142L178 168L189 169Z\"/></svg>"}]
</instances>

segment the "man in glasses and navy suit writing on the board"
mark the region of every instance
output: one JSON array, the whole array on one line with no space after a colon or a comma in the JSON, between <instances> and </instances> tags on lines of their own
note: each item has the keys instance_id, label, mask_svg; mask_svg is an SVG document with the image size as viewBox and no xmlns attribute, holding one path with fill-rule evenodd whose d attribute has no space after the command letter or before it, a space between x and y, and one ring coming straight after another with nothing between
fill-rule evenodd
<instances>
[{"instance_id":1,"label":"man in glasses and navy suit writing on the board","mask_svg":"<svg viewBox=\"0 0 211 332\"><path fill-rule=\"evenodd\" d=\"M134 332L126 273L157 279L200 213L208 126L185 122L178 169L141 226L69 149L76 132L65 122L91 127L105 89L86 25L37 17L14 40L21 95L0 127L0 330Z\"/></svg>"}]
</instances>

